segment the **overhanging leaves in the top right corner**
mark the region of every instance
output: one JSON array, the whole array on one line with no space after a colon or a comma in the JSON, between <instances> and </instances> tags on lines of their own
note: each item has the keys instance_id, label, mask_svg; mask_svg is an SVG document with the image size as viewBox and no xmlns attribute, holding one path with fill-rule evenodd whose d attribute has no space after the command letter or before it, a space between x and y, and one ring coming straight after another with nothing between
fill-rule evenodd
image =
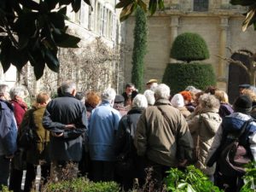
<instances>
[{"instance_id":1,"label":"overhanging leaves in the top right corner","mask_svg":"<svg viewBox=\"0 0 256 192\"><path fill-rule=\"evenodd\" d=\"M233 5L247 6L246 19L242 22L242 31L245 32L248 26L253 25L256 30L256 2L254 0L230 0Z\"/></svg>"}]
</instances>

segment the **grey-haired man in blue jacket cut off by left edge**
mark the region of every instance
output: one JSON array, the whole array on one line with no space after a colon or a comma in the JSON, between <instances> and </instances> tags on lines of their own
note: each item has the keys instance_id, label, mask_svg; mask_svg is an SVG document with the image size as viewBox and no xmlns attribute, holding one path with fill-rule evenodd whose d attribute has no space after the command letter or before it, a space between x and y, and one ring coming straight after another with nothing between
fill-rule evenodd
<instances>
[{"instance_id":1,"label":"grey-haired man in blue jacket cut off by left edge","mask_svg":"<svg viewBox=\"0 0 256 192\"><path fill-rule=\"evenodd\" d=\"M7 102L9 100L9 87L0 84L0 191L2 185L7 186L9 177L10 160L16 151L17 125L14 109Z\"/></svg>"}]
</instances>

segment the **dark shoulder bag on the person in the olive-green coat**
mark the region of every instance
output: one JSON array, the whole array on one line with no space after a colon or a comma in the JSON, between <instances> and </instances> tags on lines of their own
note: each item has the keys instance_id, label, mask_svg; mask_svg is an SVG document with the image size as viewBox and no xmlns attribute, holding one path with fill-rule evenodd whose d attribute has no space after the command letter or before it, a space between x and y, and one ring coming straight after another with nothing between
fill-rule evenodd
<instances>
[{"instance_id":1,"label":"dark shoulder bag on the person in the olive-green coat","mask_svg":"<svg viewBox=\"0 0 256 192\"><path fill-rule=\"evenodd\" d=\"M28 114L28 123L24 125L20 130L20 137L18 145L20 148L29 149L36 143L36 135L34 133L33 114L34 110L31 110Z\"/></svg>"}]
</instances>

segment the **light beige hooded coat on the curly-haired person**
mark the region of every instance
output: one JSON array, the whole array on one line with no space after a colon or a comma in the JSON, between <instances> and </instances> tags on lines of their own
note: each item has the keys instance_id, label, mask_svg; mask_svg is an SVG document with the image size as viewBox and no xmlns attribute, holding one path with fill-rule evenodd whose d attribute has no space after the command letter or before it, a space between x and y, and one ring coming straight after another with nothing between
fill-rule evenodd
<instances>
[{"instance_id":1,"label":"light beige hooded coat on the curly-haired person","mask_svg":"<svg viewBox=\"0 0 256 192\"><path fill-rule=\"evenodd\" d=\"M195 153L198 155L195 166L207 175L213 175L215 172L215 166L206 166L206 159L221 122L222 119L216 108L204 109L194 118L188 119L189 131L197 149Z\"/></svg>"}]
</instances>

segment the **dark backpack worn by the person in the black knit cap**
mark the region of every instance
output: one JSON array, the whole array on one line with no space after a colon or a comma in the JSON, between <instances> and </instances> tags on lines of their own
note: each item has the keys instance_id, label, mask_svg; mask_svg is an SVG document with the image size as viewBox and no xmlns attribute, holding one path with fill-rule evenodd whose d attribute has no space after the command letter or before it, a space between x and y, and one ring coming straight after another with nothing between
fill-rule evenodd
<instances>
[{"instance_id":1,"label":"dark backpack worn by the person in the black knit cap","mask_svg":"<svg viewBox=\"0 0 256 192\"><path fill-rule=\"evenodd\" d=\"M245 165L252 160L247 148L241 144L241 137L247 130L253 119L249 119L241 126L241 131L236 134L228 134L224 140L229 138L230 143L224 143L220 151L218 162L218 171L226 176L236 177L245 174Z\"/></svg>"}]
</instances>

